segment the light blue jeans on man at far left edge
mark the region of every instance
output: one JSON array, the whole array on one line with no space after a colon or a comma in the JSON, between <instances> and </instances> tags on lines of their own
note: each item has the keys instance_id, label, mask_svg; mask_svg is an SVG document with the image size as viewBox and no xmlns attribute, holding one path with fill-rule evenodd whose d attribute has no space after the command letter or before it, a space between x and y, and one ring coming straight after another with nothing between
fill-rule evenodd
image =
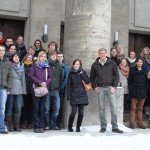
<instances>
[{"instance_id":1,"label":"light blue jeans on man at far left edge","mask_svg":"<svg viewBox=\"0 0 150 150\"><path fill-rule=\"evenodd\" d=\"M0 132L5 130L5 105L7 100L6 89L0 89Z\"/></svg>"}]
</instances>

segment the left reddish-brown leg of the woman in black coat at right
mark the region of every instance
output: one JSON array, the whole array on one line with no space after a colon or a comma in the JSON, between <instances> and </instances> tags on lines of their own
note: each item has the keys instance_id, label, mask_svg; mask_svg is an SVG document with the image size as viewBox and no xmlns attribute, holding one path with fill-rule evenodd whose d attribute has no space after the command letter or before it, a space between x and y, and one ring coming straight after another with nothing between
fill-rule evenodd
<instances>
[{"instance_id":1,"label":"left reddish-brown leg of the woman in black coat at right","mask_svg":"<svg viewBox=\"0 0 150 150\"><path fill-rule=\"evenodd\" d=\"M131 100L131 111L130 111L130 128L135 128L135 110L136 110L136 99Z\"/></svg>"}]
</instances>

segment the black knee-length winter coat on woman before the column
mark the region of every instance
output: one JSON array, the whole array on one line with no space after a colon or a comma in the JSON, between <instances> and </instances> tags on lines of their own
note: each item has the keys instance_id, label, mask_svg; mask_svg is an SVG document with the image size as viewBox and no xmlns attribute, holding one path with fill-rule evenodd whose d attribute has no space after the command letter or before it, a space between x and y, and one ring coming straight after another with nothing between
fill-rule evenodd
<instances>
[{"instance_id":1,"label":"black knee-length winter coat on woman before the column","mask_svg":"<svg viewBox=\"0 0 150 150\"><path fill-rule=\"evenodd\" d=\"M70 100L70 105L88 105L88 96L84 88L82 80L85 83L90 83L90 79L86 71L74 71L72 68L69 72L67 83L67 99Z\"/></svg>"}]
</instances>

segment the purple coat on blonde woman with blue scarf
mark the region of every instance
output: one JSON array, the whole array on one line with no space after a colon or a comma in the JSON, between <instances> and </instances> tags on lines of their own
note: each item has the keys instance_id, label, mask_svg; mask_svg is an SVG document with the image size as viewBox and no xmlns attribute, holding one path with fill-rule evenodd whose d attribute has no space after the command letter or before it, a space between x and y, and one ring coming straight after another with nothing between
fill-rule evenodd
<instances>
[{"instance_id":1,"label":"purple coat on blonde woman with blue scarf","mask_svg":"<svg viewBox=\"0 0 150 150\"><path fill-rule=\"evenodd\" d=\"M30 78L35 84L39 86L42 82L45 82L49 86L52 81L52 70L51 67L47 68L47 80L46 80L46 69L42 69L34 63L30 69Z\"/></svg>"}]
</instances>

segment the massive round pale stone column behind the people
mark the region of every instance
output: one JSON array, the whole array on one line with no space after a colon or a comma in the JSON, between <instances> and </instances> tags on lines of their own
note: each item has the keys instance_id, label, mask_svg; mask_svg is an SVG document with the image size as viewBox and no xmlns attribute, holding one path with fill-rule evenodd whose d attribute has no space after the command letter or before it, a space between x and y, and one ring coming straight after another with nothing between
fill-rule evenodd
<instances>
[{"instance_id":1,"label":"massive round pale stone column behind the people","mask_svg":"<svg viewBox=\"0 0 150 150\"><path fill-rule=\"evenodd\" d=\"M110 25L111 0L66 0L64 55L68 65L71 67L73 60L79 58L89 73L98 50L103 47L109 53ZM88 97L89 105L85 107L83 124L99 124L97 96L91 90ZM67 100L64 113L64 126L67 126L70 114Z\"/></svg>"}]
</instances>

